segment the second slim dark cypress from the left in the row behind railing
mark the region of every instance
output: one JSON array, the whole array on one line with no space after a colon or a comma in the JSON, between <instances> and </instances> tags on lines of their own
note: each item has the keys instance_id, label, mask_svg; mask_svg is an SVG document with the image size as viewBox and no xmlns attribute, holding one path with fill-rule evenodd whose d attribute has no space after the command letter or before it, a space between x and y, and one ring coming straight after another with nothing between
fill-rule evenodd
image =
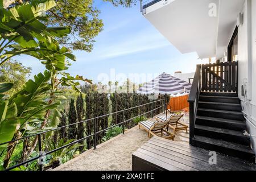
<instances>
[{"instance_id":1,"label":"second slim dark cypress from the left in the row behind railing","mask_svg":"<svg viewBox=\"0 0 256 182\"><path fill-rule=\"evenodd\" d=\"M75 101L73 99L69 102L68 121L69 125L77 122ZM76 128L76 125L68 127L68 139L76 139Z\"/></svg>"}]
</instances>

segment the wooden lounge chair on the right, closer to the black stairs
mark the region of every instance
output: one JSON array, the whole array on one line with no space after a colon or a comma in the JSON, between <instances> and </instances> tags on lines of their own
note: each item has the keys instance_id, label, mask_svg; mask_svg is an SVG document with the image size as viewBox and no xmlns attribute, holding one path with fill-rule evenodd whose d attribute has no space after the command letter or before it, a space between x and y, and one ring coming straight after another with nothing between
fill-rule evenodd
<instances>
[{"instance_id":1,"label":"wooden lounge chair on the right, closer to the black stairs","mask_svg":"<svg viewBox=\"0 0 256 182\"><path fill-rule=\"evenodd\" d=\"M188 133L188 126L184 125L183 123L179 122L181 118L183 118L184 114L172 114L170 117L167 118L167 121L169 121L169 126L171 129L174 130L174 134L176 134L176 131L180 130L186 130ZM161 115L156 117L158 121L164 121L166 120L166 115Z\"/></svg>"}]
</instances>

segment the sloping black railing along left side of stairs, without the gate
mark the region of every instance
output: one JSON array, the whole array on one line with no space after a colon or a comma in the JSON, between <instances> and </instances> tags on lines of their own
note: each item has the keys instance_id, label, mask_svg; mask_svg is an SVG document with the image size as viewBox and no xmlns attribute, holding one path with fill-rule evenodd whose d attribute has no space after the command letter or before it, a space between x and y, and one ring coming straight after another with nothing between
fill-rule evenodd
<instances>
[{"instance_id":1,"label":"sloping black railing along left side of stairs, without the gate","mask_svg":"<svg viewBox=\"0 0 256 182\"><path fill-rule=\"evenodd\" d=\"M196 112L198 107L199 95L201 92L201 65L196 66L196 73L193 79L193 84L188 97L189 102L189 143L192 142L194 137L194 129L196 122Z\"/></svg>"}]
</instances>

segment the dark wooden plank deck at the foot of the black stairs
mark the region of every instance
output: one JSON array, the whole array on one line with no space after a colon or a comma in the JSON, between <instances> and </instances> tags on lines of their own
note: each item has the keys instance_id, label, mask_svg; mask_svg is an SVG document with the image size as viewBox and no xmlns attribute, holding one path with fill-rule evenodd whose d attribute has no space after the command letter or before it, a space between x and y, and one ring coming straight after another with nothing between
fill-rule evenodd
<instances>
[{"instance_id":1,"label":"dark wooden plank deck at the foot of the black stairs","mask_svg":"<svg viewBox=\"0 0 256 182\"><path fill-rule=\"evenodd\" d=\"M217 164L209 164L209 150L153 137L133 153L134 171L256 171L255 164L217 154Z\"/></svg>"}]
</instances>

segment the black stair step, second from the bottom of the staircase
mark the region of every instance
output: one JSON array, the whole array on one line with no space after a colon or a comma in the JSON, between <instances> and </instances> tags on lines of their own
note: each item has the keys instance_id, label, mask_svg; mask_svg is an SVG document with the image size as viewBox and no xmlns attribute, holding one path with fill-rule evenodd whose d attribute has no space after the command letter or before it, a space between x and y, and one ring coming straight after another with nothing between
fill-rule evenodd
<instances>
[{"instance_id":1,"label":"black stair step, second from the bottom of the staircase","mask_svg":"<svg viewBox=\"0 0 256 182\"><path fill-rule=\"evenodd\" d=\"M240 143L246 146L250 146L250 138L248 136L243 135L242 131L222 129L219 127L211 127L204 125L196 125L195 134L204 137L221 139L228 142Z\"/></svg>"}]
</instances>

